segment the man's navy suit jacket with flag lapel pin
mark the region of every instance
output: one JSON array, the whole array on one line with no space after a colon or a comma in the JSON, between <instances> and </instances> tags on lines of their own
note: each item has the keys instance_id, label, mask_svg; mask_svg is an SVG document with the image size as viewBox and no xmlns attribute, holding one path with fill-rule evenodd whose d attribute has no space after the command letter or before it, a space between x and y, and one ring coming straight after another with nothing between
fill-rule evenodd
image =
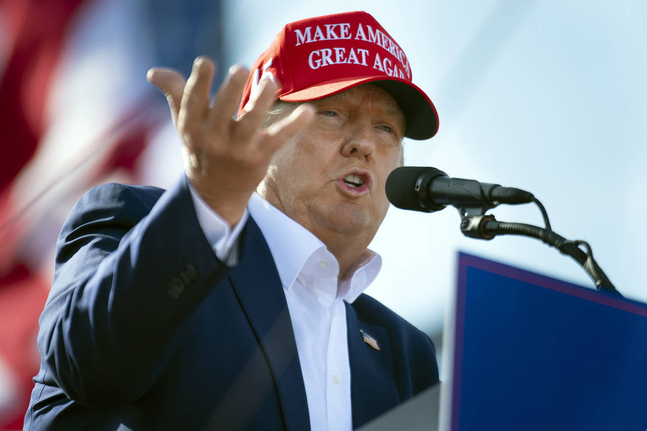
<instances>
[{"instance_id":1,"label":"man's navy suit jacket with flag lapel pin","mask_svg":"<svg viewBox=\"0 0 647 431\"><path fill-rule=\"evenodd\" d=\"M278 272L253 219L241 235L227 267L186 179L166 192L86 193L58 239L25 429L308 430ZM438 369L431 340L373 298L346 313L357 427L437 382Z\"/></svg>"}]
</instances>

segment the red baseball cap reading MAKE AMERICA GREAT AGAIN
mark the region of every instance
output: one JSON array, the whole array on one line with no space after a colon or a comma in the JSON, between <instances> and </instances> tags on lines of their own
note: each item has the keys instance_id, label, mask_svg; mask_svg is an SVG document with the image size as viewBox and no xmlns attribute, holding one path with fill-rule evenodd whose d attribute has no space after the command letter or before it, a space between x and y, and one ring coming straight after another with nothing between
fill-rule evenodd
<instances>
[{"instance_id":1,"label":"red baseball cap reading MAKE AMERICA GREAT AGAIN","mask_svg":"<svg viewBox=\"0 0 647 431\"><path fill-rule=\"evenodd\" d=\"M363 83L388 91L406 117L404 136L427 139L438 131L432 101L411 82L400 46L366 12L325 15L289 23L256 60L245 84L239 115L263 78L282 87L277 98L309 102Z\"/></svg>"}]
</instances>

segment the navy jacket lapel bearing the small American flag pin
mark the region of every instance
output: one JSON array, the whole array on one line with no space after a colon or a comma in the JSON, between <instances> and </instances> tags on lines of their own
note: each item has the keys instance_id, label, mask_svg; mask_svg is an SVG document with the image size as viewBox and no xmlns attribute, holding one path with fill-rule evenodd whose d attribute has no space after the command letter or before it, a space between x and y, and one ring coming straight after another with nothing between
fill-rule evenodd
<instances>
[{"instance_id":1,"label":"navy jacket lapel bearing the small American flag pin","mask_svg":"<svg viewBox=\"0 0 647 431\"><path fill-rule=\"evenodd\" d=\"M391 344L386 329L361 322L353 307L345 305L353 428L357 428L395 407L400 403L400 397L395 386ZM373 340L365 342L362 331ZM371 345L375 343L379 350Z\"/></svg>"}]
</instances>

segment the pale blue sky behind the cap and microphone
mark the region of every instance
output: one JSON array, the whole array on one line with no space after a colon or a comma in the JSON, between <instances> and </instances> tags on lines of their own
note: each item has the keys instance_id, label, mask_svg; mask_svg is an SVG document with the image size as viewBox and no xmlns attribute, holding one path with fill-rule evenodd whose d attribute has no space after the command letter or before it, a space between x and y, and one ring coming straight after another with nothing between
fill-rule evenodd
<instances>
[{"instance_id":1,"label":"pale blue sky behind the cap and microphone","mask_svg":"<svg viewBox=\"0 0 647 431\"><path fill-rule=\"evenodd\" d=\"M406 165L534 193L555 232L587 241L620 293L647 302L644 2L228 1L226 67L249 67L287 22L349 10L366 10L399 43L439 113L435 137L406 140ZM543 226L532 204L488 214ZM369 246L384 265L367 293L438 333L459 250L593 288L536 239L470 239L459 225L451 207L391 207Z\"/></svg>"}]
</instances>

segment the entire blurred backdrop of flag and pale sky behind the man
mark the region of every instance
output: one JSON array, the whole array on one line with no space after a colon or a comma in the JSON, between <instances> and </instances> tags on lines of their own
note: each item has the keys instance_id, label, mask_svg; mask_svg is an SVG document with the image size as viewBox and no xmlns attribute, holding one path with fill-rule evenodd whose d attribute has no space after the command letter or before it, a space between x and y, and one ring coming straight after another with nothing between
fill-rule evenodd
<instances>
[{"instance_id":1,"label":"entire blurred backdrop of flag and pale sky behind the man","mask_svg":"<svg viewBox=\"0 0 647 431\"><path fill-rule=\"evenodd\" d=\"M615 287L647 302L644 1L0 0L0 430L22 428L72 205L103 182L182 175L149 67L186 76L206 54L217 87L285 23L349 10L380 21L437 107L439 133L407 141L406 164L531 191L556 232L588 241ZM530 204L490 213L542 225ZM458 250L593 288L539 241L468 239L459 222L453 208L391 208L370 246L384 266L367 293L428 333L439 359Z\"/></svg>"}]
</instances>

